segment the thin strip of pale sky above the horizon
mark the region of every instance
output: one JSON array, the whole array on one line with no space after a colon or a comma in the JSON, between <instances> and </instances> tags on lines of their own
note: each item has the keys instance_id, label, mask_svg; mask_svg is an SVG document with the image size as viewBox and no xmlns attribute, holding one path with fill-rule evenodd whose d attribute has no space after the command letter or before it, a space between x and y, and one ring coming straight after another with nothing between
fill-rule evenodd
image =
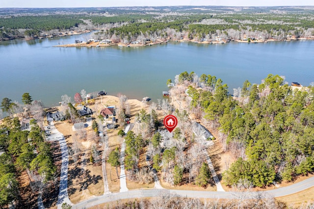
<instances>
[{"instance_id":1,"label":"thin strip of pale sky above the horizon","mask_svg":"<svg viewBox=\"0 0 314 209\"><path fill-rule=\"evenodd\" d=\"M314 6L314 0L0 0L3 7L110 7L110 6Z\"/></svg>"}]
</instances>

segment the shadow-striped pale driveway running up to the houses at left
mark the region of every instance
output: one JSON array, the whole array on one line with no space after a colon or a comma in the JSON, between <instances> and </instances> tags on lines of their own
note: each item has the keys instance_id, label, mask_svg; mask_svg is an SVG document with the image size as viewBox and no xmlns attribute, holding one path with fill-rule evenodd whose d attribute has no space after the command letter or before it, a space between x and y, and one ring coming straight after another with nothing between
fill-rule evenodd
<instances>
[{"instance_id":1,"label":"shadow-striped pale driveway running up to the houses at left","mask_svg":"<svg viewBox=\"0 0 314 209\"><path fill-rule=\"evenodd\" d=\"M52 122L49 127L50 129L46 129L46 130L51 131L51 135L47 136L47 140L48 141L58 140L60 143L60 148L61 148L62 163L61 163L59 194L58 194L58 201L57 201L57 208L61 209L61 205L64 202L70 205L73 205L68 196L68 163L69 163L68 147L67 147L67 143L65 141L63 134L60 133L54 127Z\"/></svg>"}]
</instances>

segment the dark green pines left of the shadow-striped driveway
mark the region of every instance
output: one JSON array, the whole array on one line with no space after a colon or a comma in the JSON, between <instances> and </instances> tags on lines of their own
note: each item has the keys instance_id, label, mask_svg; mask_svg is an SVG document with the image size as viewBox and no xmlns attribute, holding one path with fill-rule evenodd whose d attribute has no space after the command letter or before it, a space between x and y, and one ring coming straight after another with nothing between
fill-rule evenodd
<instances>
[{"instance_id":1,"label":"dark green pines left of the shadow-striped driveway","mask_svg":"<svg viewBox=\"0 0 314 209\"><path fill-rule=\"evenodd\" d=\"M44 132L31 120L31 130L21 131L17 117L3 119L0 129L0 206L9 204L25 208L33 193L43 191L54 185L56 166L52 161L51 145L44 140ZM22 189L19 177L26 171L31 192ZM26 182L24 182L26 183ZM54 185L56 189L56 186ZM28 191L29 192L29 191ZM36 197L35 197L36 198ZM28 205L29 207L29 205Z\"/></svg>"}]
</instances>

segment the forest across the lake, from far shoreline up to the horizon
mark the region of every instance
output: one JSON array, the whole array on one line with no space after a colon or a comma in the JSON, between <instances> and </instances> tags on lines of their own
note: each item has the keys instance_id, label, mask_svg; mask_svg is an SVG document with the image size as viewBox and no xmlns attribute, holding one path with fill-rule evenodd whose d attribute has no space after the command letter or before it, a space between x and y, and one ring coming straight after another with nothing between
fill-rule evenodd
<instances>
[{"instance_id":1,"label":"forest across the lake, from far shoreline up to the horizon","mask_svg":"<svg viewBox=\"0 0 314 209\"><path fill-rule=\"evenodd\" d=\"M285 40L314 36L312 7L108 7L1 9L0 40L103 29L97 38Z\"/></svg>"}]
</instances>

